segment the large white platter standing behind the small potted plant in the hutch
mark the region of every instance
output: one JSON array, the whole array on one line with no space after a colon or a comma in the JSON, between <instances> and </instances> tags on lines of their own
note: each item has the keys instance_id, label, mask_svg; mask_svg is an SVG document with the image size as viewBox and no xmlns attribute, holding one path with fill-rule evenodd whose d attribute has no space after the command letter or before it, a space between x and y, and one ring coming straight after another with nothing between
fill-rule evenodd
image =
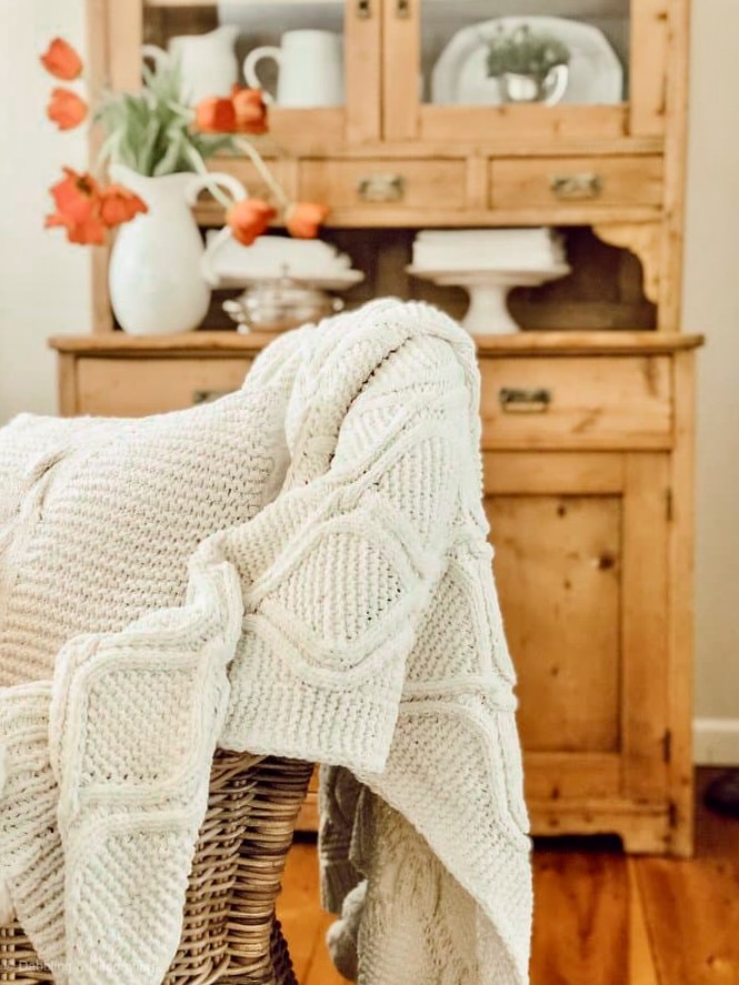
<instances>
[{"instance_id":1,"label":"large white platter standing behind the small potted plant in the hutch","mask_svg":"<svg viewBox=\"0 0 739 985\"><path fill-rule=\"evenodd\" d=\"M441 52L431 76L431 102L438 105L498 105L497 79L488 77L487 41L499 28L529 24L552 34L570 50L570 74L562 103L618 103L623 69L602 31L561 17L500 17L458 31Z\"/></svg>"}]
</instances>

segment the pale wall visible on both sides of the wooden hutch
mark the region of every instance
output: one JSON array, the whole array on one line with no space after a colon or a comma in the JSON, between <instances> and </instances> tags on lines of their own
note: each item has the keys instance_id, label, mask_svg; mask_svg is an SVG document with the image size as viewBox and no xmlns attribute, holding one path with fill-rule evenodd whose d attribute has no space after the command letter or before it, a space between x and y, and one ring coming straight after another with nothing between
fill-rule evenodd
<instances>
[{"instance_id":1,"label":"pale wall visible on both sides of the wooden hutch","mask_svg":"<svg viewBox=\"0 0 739 985\"><path fill-rule=\"evenodd\" d=\"M703 332L698 428L697 752L739 763L739 96L737 0L693 0L685 326ZM43 108L38 53L83 50L84 0L0 0L0 422L52 411L48 335L87 332L89 254L42 230L46 189L84 161ZM9 28L9 29L8 29Z\"/></svg>"}]
</instances>

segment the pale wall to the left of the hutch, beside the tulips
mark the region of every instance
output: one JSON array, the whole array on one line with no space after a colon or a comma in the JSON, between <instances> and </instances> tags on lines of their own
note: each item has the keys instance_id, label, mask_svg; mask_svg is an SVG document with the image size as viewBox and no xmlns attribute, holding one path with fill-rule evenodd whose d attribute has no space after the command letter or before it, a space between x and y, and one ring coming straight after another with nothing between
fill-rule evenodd
<instances>
[{"instance_id":1,"label":"pale wall to the left of the hutch, beside the tulips","mask_svg":"<svg viewBox=\"0 0 739 985\"><path fill-rule=\"evenodd\" d=\"M90 331L90 258L46 232L47 189L86 163L84 134L44 114L53 80L38 57L54 34L84 51L84 0L0 0L0 422L56 410L49 335Z\"/></svg>"}]
</instances>

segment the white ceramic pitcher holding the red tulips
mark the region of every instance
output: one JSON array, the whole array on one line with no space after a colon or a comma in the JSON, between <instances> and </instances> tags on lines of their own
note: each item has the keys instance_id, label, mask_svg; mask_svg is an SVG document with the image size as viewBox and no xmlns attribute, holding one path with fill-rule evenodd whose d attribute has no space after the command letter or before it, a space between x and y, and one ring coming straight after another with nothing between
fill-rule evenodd
<instances>
[{"instance_id":1,"label":"white ceramic pitcher holding the red tulips","mask_svg":"<svg viewBox=\"0 0 739 985\"><path fill-rule=\"evenodd\" d=\"M200 269L202 239L191 204L211 183L234 198L246 192L228 174L166 174L147 178L122 164L110 168L113 181L136 192L149 211L120 227L110 258L110 302L131 335L189 332L202 322L210 288Z\"/></svg>"}]
</instances>

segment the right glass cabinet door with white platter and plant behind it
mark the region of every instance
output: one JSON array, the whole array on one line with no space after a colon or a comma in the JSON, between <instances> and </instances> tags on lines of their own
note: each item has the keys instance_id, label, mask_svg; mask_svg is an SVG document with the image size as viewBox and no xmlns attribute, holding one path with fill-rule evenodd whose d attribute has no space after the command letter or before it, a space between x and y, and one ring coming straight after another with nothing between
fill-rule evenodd
<instances>
[{"instance_id":1,"label":"right glass cabinet door with white platter and plant behind it","mask_svg":"<svg viewBox=\"0 0 739 985\"><path fill-rule=\"evenodd\" d=\"M670 0L386 0L386 137L659 135ZM393 67L416 67L398 92Z\"/></svg>"}]
</instances>

